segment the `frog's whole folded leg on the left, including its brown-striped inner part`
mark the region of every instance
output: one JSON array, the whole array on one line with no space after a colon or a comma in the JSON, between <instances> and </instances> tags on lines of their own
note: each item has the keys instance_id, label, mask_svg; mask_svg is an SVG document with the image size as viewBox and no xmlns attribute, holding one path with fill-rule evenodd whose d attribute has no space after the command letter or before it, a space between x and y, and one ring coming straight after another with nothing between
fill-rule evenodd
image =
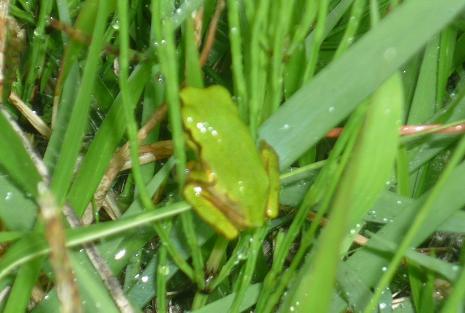
<instances>
[{"instance_id":1,"label":"frog's whole folded leg on the left, including its brown-striped inner part","mask_svg":"<svg viewBox=\"0 0 465 313\"><path fill-rule=\"evenodd\" d=\"M224 214L228 208L211 192L214 183L208 172L193 170L184 186L184 197L204 221L231 240L238 236L239 230Z\"/></svg>"}]
</instances>

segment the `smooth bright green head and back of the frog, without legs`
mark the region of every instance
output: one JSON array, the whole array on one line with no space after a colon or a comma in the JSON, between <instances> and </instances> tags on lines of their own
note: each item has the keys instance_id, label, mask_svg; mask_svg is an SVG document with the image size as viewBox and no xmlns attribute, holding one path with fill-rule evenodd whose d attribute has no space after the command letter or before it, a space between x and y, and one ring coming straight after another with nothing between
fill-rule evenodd
<instances>
[{"instance_id":1,"label":"smooth bright green head and back of the frog, without legs","mask_svg":"<svg viewBox=\"0 0 465 313\"><path fill-rule=\"evenodd\" d=\"M233 201L242 205L256 206L251 214L264 214L268 195L268 176L260 159L249 129L242 122L236 105L228 91L213 86L206 89L186 88L182 91L183 119L189 123L191 137L195 142L209 142L200 147L200 157L209 160L209 169L221 177L218 189L224 188ZM229 187L228 190L224 186ZM252 225L253 226L253 225ZM255 225L257 226L257 225Z\"/></svg>"}]
</instances>

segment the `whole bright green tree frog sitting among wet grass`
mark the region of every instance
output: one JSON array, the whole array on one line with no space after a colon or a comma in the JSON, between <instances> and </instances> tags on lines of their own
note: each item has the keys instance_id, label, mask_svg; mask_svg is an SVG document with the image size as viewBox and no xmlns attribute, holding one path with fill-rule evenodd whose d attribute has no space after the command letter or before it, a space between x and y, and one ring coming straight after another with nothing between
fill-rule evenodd
<instances>
[{"instance_id":1,"label":"whole bright green tree frog sitting among wet grass","mask_svg":"<svg viewBox=\"0 0 465 313\"><path fill-rule=\"evenodd\" d=\"M228 239L278 214L278 156L257 149L229 92L221 86L181 91L182 121L197 160L183 194L208 224Z\"/></svg>"}]
</instances>

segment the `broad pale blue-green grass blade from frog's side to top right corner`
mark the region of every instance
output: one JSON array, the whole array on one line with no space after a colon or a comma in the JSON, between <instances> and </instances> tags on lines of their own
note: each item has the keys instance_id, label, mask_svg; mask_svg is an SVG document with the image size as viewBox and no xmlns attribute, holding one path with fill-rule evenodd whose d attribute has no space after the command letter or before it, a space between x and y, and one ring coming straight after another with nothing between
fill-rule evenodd
<instances>
[{"instance_id":1,"label":"broad pale blue-green grass blade from frog's side to top right corner","mask_svg":"<svg viewBox=\"0 0 465 313\"><path fill-rule=\"evenodd\" d=\"M277 150L281 168L343 120L463 7L460 0L403 3L297 91L259 132ZM412 16L418 17L415 29Z\"/></svg>"}]
</instances>

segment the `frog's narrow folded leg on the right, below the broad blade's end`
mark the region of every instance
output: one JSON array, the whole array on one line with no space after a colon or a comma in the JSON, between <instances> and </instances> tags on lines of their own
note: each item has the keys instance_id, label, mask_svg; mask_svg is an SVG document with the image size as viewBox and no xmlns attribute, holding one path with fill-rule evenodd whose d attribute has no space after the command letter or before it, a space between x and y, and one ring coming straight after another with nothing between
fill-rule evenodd
<instances>
[{"instance_id":1,"label":"frog's narrow folded leg on the right, below the broad blade's end","mask_svg":"<svg viewBox=\"0 0 465 313\"><path fill-rule=\"evenodd\" d=\"M269 182L265 214L269 218L275 218L279 213L279 159L273 148L265 141L260 143L260 156Z\"/></svg>"}]
</instances>

